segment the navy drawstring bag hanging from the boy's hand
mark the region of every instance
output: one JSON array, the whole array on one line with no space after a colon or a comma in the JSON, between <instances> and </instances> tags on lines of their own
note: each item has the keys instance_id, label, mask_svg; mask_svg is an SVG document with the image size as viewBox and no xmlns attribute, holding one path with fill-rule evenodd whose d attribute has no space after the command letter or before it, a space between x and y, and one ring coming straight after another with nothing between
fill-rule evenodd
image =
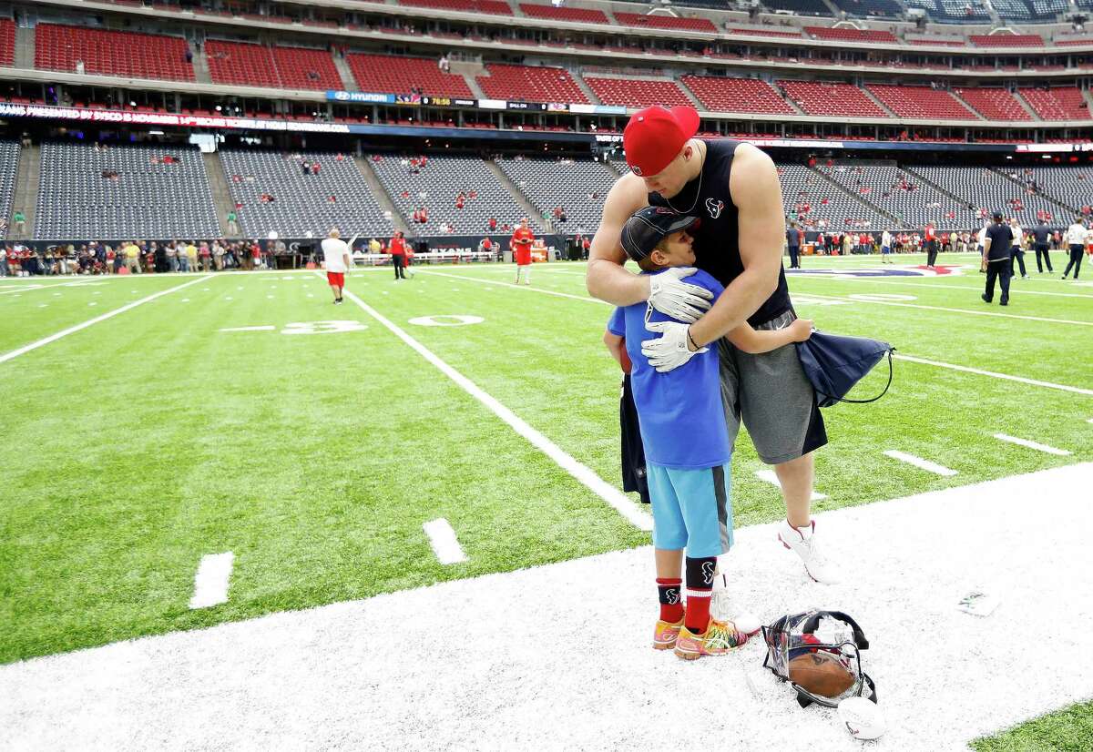
<instances>
[{"instance_id":1,"label":"navy drawstring bag hanging from the boy's hand","mask_svg":"<svg viewBox=\"0 0 1093 752\"><path fill-rule=\"evenodd\" d=\"M804 375L815 389L818 407L830 408L836 402L875 402L892 386L892 353L895 348L888 342L813 331L812 337L796 344ZM889 383L884 391L867 400L845 399L854 385L872 371L885 354L889 356Z\"/></svg>"}]
</instances>

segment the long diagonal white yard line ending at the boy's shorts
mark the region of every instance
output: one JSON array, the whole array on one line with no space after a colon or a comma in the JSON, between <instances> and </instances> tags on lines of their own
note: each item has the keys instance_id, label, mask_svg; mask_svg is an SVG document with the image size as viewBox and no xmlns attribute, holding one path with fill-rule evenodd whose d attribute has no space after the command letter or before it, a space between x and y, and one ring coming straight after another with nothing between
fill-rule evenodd
<instances>
[{"instance_id":1,"label":"long diagonal white yard line ending at the boy's shorts","mask_svg":"<svg viewBox=\"0 0 1093 752\"><path fill-rule=\"evenodd\" d=\"M436 272L433 272L436 273ZM462 389L469 393L471 397L477 399L479 402L484 404L490 409L493 414L507 423L516 433L528 439L536 448L542 451L544 455L550 457L552 460L559 463L559 466L577 479L581 484L585 485L589 491L595 493L597 496L602 498L604 502L610 504L615 510L619 512L623 517L625 517L634 527L639 530L651 530L653 529L653 517L643 512L637 507L634 502L630 500L626 494L619 489L614 487L610 483L606 482L589 468L585 467L576 459L571 457L568 454L562 450L560 446L554 444L552 440L543 436L541 433L532 428L530 425L518 418L512 410L506 408L504 404L495 400L493 397L484 392L478 387L473 381L463 376L461 373L453 368L450 365L442 361L439 357L434 355L425 345L421 344L418 340L410 337L398 326L387 320L378 310L369 306L367 303L362 301L360 297L349 292L348 290L342 293L349 299L353 301L357 306L360 306L366 314L372 316L374 319L383 324L387 329L398 337L400 340L406 342L408 345L413 348L419 355L424 357L426 361L435 365L445 376L450 378L453 381L458 384ZM591 299L591 298L589 298Z\"/></svg>"}]
</instances>

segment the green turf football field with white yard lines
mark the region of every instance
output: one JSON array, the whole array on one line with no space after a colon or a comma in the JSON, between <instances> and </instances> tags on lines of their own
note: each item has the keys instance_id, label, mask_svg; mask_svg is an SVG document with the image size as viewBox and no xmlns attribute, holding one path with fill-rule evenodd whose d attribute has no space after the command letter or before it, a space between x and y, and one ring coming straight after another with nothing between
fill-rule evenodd
<instances>
[{"instance_id":1,"label":"green turf football field with white yard lines","mask_svg":"<svg viewBox=\"0 0 1093 752\"><path fill-rule=\"evenodd\" d=\"M897 352L885 397L824 411L814 510L1093 460L1093 281L1033 271L1003 308L969 256L897 261L789 275ZM0 663L647 545L584 274L360 270L341 306L318 272L0 280ZM738 527L784 514L764 470L741 432Z\"/></svg>"}]
</instances>

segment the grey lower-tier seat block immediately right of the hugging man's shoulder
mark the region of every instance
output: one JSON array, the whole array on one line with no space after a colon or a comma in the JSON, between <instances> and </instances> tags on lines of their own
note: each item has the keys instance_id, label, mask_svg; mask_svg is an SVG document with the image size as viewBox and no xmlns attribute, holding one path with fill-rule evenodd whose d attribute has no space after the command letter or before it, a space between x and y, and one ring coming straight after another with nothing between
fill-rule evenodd
<instances>
[{"instance_id":1,"label":"grey lower-tier seat block immediately right of the hugging man's shoulder","mask_svg":"<svg viewBox=\"0 0 1093 752\"><path fill-rule=\"evenodd\" d=\"M892 224L873 207L850 198L804 165L778 164L777 167L786 214L796 212L802 204L809 204L809 211L800 214L806 231L880 231Z\"/></svg>"}]
</instances>

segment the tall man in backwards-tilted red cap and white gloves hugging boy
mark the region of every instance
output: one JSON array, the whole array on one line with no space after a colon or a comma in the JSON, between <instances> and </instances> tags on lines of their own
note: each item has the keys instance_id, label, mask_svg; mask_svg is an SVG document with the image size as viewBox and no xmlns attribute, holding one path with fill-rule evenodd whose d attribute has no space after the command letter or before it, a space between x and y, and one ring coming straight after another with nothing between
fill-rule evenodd
<instances>
[{"instance_id":1,"label":"tall man in backwards-tilted red cap and white gloves hugging boy","mask_svg":"<svg viewBox=\"0 0 1093 752\"><path fill-rule=\"evenodd\" d=\"M745 353L725 339L736 327L783 329L797 317L781 268L786 218L781 186L771 157L749 143L696 138L691 107L647 107L631 117L623 149L631 173L608 193L592 240L588 292L616 306L648 302L678 321L642 343L658 371L685 364L695 351L717 344L730 442L741 422L755 449L774 466L786 502L778 539L804 563L812 579L838 581L813 534L810 516L812 453L826 444L815 392L794 346ZM637 275L623 268L622 228L643 207L666 207L701 218L692 231L695 266L725 286L710 304L708 291L689 284L686 268Z\"/></svg>"}]
</instances>

